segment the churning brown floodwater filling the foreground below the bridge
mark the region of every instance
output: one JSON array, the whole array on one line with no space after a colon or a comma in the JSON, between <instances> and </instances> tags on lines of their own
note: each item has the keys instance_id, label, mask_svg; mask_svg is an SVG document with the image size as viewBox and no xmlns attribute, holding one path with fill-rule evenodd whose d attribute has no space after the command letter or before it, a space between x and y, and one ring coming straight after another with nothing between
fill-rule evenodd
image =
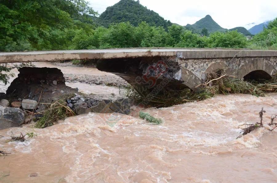
<instances>
[{"instance_id":1,"label":"churning brown floodwater filling the foreground below the bridge","mask_svg":"<svg viewBox=\"0 0 277 183\"><path fill-rule=\"evenodd\" d=\"M30 127L0 130L0 182L276 182L277 134L265 125L239 136L238 125L277 114L277 94L217 95L200 102L131 115L90 113L35 129L26 142L8 142Z\"/></svg>"}]
</instances>

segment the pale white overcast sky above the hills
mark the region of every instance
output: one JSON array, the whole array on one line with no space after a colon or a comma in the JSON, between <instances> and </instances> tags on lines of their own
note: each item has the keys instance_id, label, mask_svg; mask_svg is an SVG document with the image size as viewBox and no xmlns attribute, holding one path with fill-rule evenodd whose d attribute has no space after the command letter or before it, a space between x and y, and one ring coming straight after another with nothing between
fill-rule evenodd
<instances>
[{"instance_id":1,"label":"pale white overcast sky above the hills","mask_svg":"<svg viewBox=\"0 0 277 183\"><path fill-rule=\"evenodd\" d=\"M101 14L119 0L87 0ZM223 28L247 29L277 17L277 0L140 0L140 4L179 25L194 24L207 14Z\"/></svg>"}]
</instances>

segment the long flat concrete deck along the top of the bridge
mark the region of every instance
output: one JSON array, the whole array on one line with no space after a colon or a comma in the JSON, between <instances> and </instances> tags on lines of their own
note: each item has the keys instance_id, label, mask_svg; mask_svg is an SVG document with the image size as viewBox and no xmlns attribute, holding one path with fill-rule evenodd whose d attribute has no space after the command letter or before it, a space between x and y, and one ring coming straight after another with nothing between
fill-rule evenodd
<instances>
[{"instance_id":1,"label":"long flat concrete deck along the top of the bridge","mask_svg":"<svg viewBox=\"0 0 277 183\"><path fill-rule=\"evenodd\" d=\"M0 63L39 62L79 59L114 59L149 56L177 56L193 58L230 58L277 56L274 50L243 49L99 49L34 52L0 52Z\"/></svg>"}]
</instances>

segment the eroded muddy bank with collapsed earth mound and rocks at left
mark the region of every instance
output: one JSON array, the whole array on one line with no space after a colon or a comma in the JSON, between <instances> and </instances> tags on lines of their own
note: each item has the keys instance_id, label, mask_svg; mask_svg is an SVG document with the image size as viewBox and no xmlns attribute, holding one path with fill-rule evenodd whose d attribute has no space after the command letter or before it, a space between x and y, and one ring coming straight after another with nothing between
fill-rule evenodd
<instances>
[{"instance_id":1,"label":"eroded muddy bank with collapsed earth mound and rocks at left","mask_svg":"<svg viewBox=\"0 0 277 183\"><path fill-rule=\"evenodd\" d=\"M130 100L124 95L78 92L78 88L66 86L63 73L58 68L23 67L18 72L6 94L0 95L0 129L41 122L46 113L57 115L57 119L64 119L68 111L70 116L89 112L130 113ZM58 110L52 111L51 108Z\"/></svg>"}]
</instances>

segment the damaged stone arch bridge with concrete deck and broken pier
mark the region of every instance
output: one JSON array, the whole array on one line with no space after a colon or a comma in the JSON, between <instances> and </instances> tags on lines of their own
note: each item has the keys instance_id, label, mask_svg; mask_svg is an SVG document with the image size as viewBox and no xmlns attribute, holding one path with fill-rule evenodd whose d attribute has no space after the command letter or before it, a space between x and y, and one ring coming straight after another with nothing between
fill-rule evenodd
<instances>
[{"instance_id":1,"label":"damaged stone arch bridge with concrete deck and broken pier","mask_svg":"<svg viewBox=\"0 0 277 183\"><path fill-rule=\"evenodd\" d=\"M0 63L90 60L137 91L155 87L196 90L207 73L225 69L246 80L270 79L277 69L277 51L234 49L106 49L0 53ZM159 88L158 88L159 89Z\"/></svg>"}]
</instances>

